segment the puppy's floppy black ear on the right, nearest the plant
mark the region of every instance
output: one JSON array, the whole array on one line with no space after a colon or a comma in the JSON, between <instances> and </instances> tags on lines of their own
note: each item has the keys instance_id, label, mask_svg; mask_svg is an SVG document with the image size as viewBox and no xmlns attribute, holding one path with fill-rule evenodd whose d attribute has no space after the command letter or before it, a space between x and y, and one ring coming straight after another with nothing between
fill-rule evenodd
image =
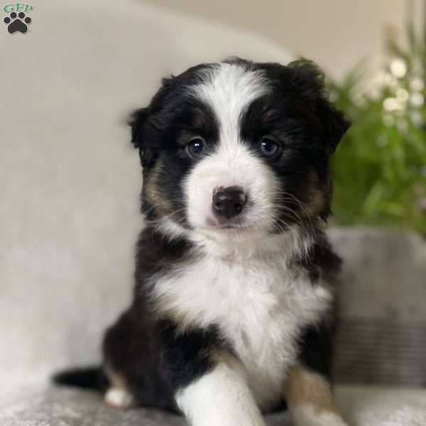
<instances>
[{"instance_id":1,"label":"puppy's floppy black ear on the right, nearest the plant","mask_svg":"<svg viewBox=\"0 0 426 426\"><path fill-rule=\"evenodd\" d=\"M329 153L334 153L351 126L350 121L329 102L324 74L315 62L300 59L290 62L288 67L292 71L290 84L316 109L315 113L324 126Z\"/></svg>"}]
</instances>

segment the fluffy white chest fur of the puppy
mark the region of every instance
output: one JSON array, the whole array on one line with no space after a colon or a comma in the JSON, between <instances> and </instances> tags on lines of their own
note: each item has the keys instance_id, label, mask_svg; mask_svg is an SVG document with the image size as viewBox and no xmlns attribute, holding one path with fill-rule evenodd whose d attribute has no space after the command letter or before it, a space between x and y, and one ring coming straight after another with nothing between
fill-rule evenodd
<instances>
[{"instance_id":1,"label":"fluffy white chest fur of the puppy","mask_svg":"<svg viewBox=\"0 0 426 426\"><path fill-rule=\"evenodd\" d=\"M162 309L199 327L216 324L239 355L261 407L277 400L295 339L327 309L332 295L285 259L231 261L204 256L156 280Z\"/></svg>"}]
</instances>

